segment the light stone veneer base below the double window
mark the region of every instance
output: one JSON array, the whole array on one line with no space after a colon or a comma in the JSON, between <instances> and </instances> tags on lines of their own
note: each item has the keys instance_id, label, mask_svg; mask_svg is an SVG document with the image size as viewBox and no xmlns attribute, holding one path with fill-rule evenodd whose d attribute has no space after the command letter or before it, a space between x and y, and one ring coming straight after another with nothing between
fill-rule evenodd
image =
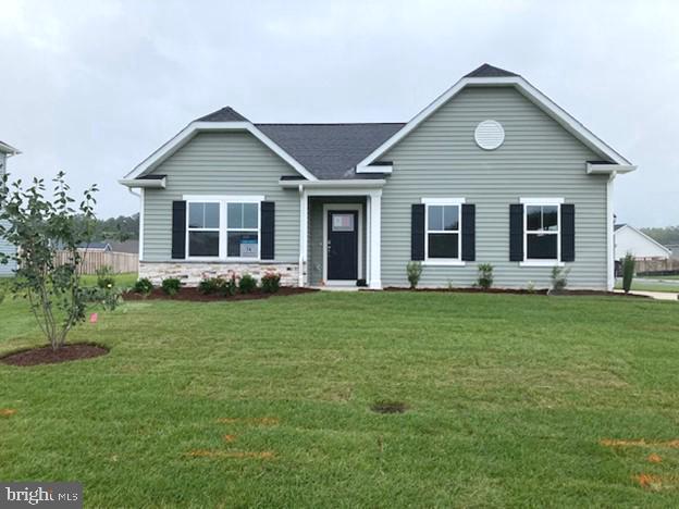
<instances>
[{"instance_id":1,"label":"light stone veneer base below the double window","mask_svg":"<svg viewBox=\"0 0 679 509\"><path fill-rule=\"evenodd\" d=\"M139 262L139 277L148 277L153 285L160 285L168 277L176 277L185 286L198 286L205 278L227 278L232 273L236 276L248 273L259 281L267 272L281 274L282 286L299 286L298 263Z\"/></svg>"}]
</instances>

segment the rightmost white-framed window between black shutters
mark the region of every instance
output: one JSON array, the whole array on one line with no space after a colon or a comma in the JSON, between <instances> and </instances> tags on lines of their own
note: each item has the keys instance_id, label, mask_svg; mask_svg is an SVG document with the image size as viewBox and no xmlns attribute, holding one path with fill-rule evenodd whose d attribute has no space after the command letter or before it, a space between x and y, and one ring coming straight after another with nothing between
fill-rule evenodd
<instances>
[{"instance_id":1,"label":"rightmost white-framed window between black shutters","mask_svg":"<svg viewBox=\"0 0 679 509\"><path fill-rule=\"evenodd\" d=\"M521 199L524 264L560 264L563 202L563 198Z\"/></svg>"}]
</instances>

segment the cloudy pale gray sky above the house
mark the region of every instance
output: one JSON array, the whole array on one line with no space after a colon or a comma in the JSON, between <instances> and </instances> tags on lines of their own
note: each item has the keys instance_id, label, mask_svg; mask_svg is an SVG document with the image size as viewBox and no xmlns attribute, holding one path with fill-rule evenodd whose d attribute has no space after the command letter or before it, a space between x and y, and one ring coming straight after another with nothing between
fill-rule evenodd
<instances>
[{"instance_id":1,"label":"cloudy pale gray sky above the house","mask_svg":"<svg viewBox=\"0 0 679 509\"><path fill-rule=\"evenodd\" d=\"M407 121L483 62L639 164L619 221L679 224L679 2L0 0L0 139L22 176L116 179L190 120Z\"/></svg>"}]
</instances>

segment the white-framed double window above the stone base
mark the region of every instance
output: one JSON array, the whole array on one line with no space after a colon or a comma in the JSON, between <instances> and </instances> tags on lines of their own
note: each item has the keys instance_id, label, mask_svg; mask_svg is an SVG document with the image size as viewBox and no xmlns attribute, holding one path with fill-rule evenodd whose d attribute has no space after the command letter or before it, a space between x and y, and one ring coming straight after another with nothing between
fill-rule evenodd
<instances>
[{"instance_id":1,"label":"white-framed double window above the stone base","mask_svg":"<svg viewBox=\"0 0 679 509\"><path fill-rule=\"evenodd\" d=\"M186 258L259 261L263 196L184 196Z\"/></svg>"}]
</instances>

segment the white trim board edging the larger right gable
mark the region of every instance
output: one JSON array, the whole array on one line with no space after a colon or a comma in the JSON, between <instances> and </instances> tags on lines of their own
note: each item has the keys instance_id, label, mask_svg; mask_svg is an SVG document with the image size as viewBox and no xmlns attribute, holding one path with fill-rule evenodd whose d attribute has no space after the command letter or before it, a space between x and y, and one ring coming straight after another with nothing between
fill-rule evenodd
<instances>
[{"instance_id":1,"label":"white trim board edging the larger right gable","mask_svg":"<svg viewBox=\"0 0 679 509\"><path fill-rule=\"evenodd\" d=\"M508 86L516 88L527 99L542 109L552 119L558 122L566 131L582 141L585 146L590 147L597 153L609 158L617 164L630 167L631 163L625 159L620 153L614 150L609 145L604 142L601 138L595 136L584 125L578 122L566 110L556 104L552 99L541 92L538 88L532 86L528 80L521 76L505 76L505 77L491 77L491 78L474 78L464 77L459 79L455 85L448 88L445 92L439 96L431 104L420 111L417 115L410 120L400 131L395 133L391 138L384 141L380 147L373 150L368 157L360 161L356 165L356 173L370 173L367 169L371 163L375 162L382 157L388 149L408 136L417 126L424 122L429 116L434 113L439 108L448 102L455 96L457 96L464 88L469 86ZM632 171L632 170L628 170Z\"/></svg>"}]
</instances>

